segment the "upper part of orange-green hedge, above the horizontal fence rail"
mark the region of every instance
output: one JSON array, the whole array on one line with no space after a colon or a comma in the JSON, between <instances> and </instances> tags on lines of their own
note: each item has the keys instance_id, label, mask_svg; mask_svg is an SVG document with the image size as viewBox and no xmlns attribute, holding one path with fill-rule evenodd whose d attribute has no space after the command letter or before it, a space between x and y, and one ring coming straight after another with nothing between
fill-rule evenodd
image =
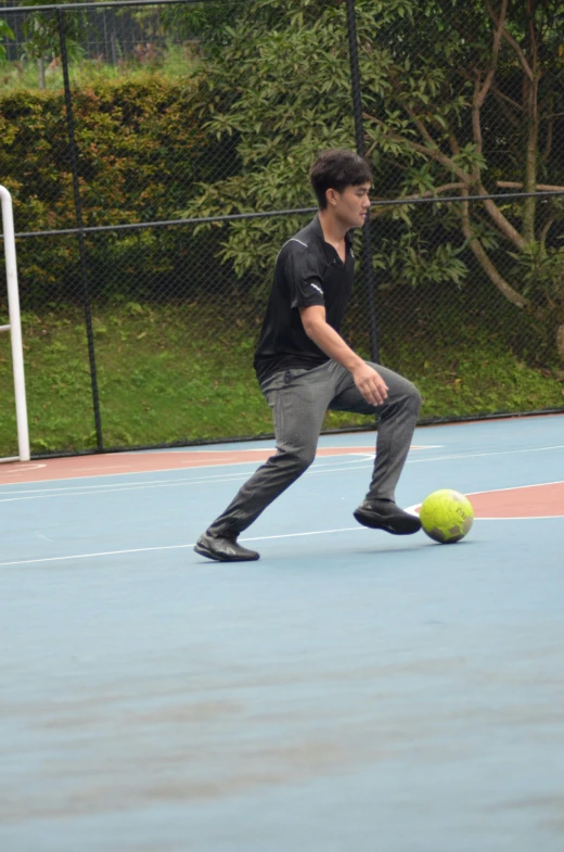
<instances>
[{"instance_id":1,"label":"upper part of orange-green hedge, above the horizontal fence rail","mask_svg":"<svg viewBox=\"0 0 564 852\"><path fill-rule=\"evenodd\" d=\"M197 91L197 79L148 74L73 92L85 225L165 218L185 204L194 181L209 177ZM0 174L18 230L75 226L62 91L0 99Z\"/></svg>"}]
</instances>

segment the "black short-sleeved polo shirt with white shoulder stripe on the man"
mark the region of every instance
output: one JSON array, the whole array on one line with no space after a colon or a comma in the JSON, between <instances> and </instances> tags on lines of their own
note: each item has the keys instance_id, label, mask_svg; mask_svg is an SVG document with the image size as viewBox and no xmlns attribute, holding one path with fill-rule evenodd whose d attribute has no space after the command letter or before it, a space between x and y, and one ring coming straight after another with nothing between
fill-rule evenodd
<instances>
[{"instance_id":1,"label":"black short-sleeved polo shirt with white shoulder stripe on the man","mask_svg":"<svg viewBox=\"0 0 564 852\"><path fill-rule=\"evenodd\" d=\"M316 216L282 246L255 353L259 382L280 370L310 370L329 360L304 331L298 308L323 305L328 323L339 331L355 271L350 237L345 240L343 263L336 249L325 242Z\"/></svg>"}]
</instances>

